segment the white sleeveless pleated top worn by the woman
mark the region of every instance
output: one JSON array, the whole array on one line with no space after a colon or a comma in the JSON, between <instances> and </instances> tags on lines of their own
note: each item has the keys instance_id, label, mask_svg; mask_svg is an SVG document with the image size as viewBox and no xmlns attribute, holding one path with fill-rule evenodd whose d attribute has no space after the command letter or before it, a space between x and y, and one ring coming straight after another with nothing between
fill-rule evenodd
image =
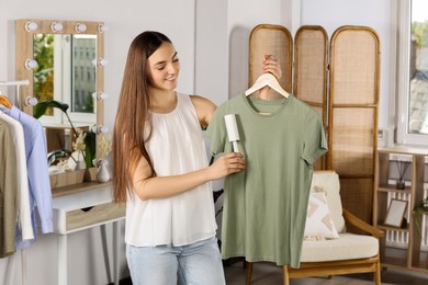
<instances>
[{"instance_id":1,"label":"white sleeveless pleated top worn by the woman","mask_svg":"<svg viewBox=\"0 0 428 285\"><path fill-rule=\"evenodd\" d=\"M158 176L183 174L207 166L203 133L189 95L177 93L168 114L151 113L146 142ZM217 228L211 182L167 198L127 197L125 242L135 247L184 246L207 239Z\"/></svg>"}]
</instances>

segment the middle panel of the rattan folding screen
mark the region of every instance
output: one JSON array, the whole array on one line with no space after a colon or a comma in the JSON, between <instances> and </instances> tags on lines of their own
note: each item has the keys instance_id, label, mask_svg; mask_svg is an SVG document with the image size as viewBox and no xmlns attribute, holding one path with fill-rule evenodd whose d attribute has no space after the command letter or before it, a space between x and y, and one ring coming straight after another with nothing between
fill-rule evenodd
<instances>
[{"instance_id":1,"label":"middle panel of the rattan folding screen","mask_svg":"<svg viewBox=\"0 0 428 285\"><path fill-rule=\"evenodd\" d=\"M327 133L328 35L318 25L301 26L294 36L293 94L313 106L322 116ZM326 157L314 168L326 168Z\"/></svg>"}]
</instances>

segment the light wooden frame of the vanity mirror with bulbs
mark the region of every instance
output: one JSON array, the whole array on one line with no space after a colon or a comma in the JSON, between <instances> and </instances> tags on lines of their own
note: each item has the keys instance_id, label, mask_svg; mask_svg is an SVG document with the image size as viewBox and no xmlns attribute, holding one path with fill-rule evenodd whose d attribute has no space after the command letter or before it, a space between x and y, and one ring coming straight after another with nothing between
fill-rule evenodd
<instances>
[{"instance_id":1,"label":"light wooden frame of the vanity mirror with bulbs","mask_svg":"<svg viewBox=\"0 0 428 285\"><path fill-rule=\"evenodd\" d=\"M37 26L35 30L27 29L27 23L35 23ZM63 30L55 32L52 30L53 23L63 24ZM85 32L77 31L77 24L85 24L87 30ZM27 80L27 86L22 86L19 94L20 110L26 114L33 116L33 106L26 102L33 98L34 90L34 77L33 69L25 66L27 59L33 59L34 48L33 38L34 34L89 34L97 35L97 66L95 66L95 80L97 80L97 94L104 92L104 67L100 64L101 59L104 59L104 32L102 27L105 27L103 22L90 22L90 21L63 21L63 20L36 20L36 19L19 19L15 20L15 77L19 80ZM104 124L104 102L98 98L97 102L97 130ZM98 139L99 132L97 132ZM99 153L97 144L97 157Z\"/></svg>"}]
</instances>

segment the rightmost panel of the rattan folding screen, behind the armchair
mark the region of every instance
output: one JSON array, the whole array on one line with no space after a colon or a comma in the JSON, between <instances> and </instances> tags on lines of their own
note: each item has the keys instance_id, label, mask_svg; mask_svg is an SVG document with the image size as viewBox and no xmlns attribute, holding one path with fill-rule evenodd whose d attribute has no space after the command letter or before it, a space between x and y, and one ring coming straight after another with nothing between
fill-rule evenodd
<instances>
[{"instance_id":1,"label":"rightmost panel of the rattan folding screen, behind the armchair","mask_svg":"<svg viewBox=\"0 0 428 285\"><path fill-rule=\"evenodd\" d=\"M330 43L327 168L340 175L343 207L367 223L373 208L379 77L375 31L337 29Z\"/></svg>"}]
</instances>

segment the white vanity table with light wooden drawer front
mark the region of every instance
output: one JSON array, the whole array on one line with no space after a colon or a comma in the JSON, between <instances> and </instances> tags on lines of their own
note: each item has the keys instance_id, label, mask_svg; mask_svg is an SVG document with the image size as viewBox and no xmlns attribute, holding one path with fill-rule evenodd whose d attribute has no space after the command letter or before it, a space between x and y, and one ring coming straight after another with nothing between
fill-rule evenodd
<instances>
[{"instance_id":1,"label":"white vanity table with light wooden drawer front","mask_svg":"<svg viewBox=\"0 0 428 285\"><path fill-rule=\"evenodd\" d=\"M54 233L58 240L58 285L67 284L67 236L89 228L113 225L113 277L119 284L120 223L125 205L112 203L111 182L88 182L53 189Z\"/></svg>"}]
</instances>

